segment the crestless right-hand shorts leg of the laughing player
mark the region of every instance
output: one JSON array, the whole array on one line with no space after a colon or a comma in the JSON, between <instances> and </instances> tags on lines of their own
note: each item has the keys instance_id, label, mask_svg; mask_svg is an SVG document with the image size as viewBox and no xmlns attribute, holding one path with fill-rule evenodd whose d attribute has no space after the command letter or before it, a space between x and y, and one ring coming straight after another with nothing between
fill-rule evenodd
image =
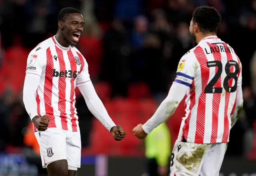
<instances>
[{"instance_id":1,"label":"crestless right-hand shorts leg of the laughing player","mask_svg":"<svg viewBox=\"0 0 256 176\"><path fill-rule=\"evenodd\" d=\"M66 151L68 169L75 170L81 165L81 136L80 132L68 131L66 139Z\"/></svg>"}]
</instances>

